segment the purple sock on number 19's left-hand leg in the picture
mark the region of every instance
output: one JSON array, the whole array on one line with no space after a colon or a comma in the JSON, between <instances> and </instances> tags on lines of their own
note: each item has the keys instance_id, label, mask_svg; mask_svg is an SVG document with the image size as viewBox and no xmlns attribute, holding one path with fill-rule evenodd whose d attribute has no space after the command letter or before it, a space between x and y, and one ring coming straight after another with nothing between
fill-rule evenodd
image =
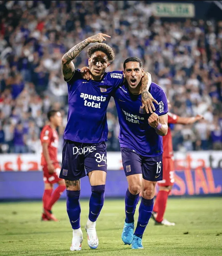
<instances>
[{"instance_id":1,"label":"purple sock on number 19's left-hand leg in the picture","mask_svg":"<svg viewBox=\"0 0 222 256\"><path fill-rule=\"evenodd\" d=\"M134 214L136 210L136 206L139 202L139 194L133 195L130 193L127 188L126 197L125 197L125 212L126 212L126 223L134 222Z\"/></svg>"}]
</instances>

